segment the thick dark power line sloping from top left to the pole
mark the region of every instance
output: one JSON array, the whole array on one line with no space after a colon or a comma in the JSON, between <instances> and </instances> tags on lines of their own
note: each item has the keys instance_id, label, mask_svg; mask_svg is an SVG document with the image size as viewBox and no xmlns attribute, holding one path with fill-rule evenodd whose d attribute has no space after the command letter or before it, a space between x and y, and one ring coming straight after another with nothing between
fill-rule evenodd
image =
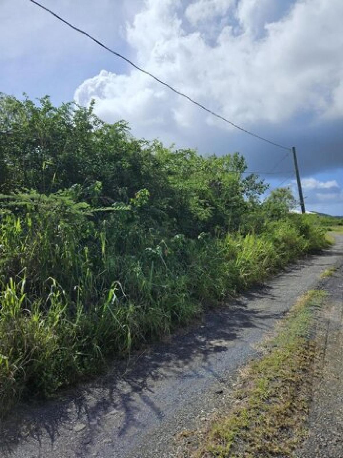
<instances>
[{"instance_id":1,"label":"thick dark power line sloping from top left to the pole","mask_svg":"<svg viewBox=\"0 0 343 458\"><path fill-rule=\"evenodd\" d=\"M235 127L236 129L239 129L240 131L242 132L245 132L259 140L262 140L263 142L266 142L266 143L270 143L271 145L274 145L276 147L279 147L279 148L282 148L282 149L287 149L287 150L290 150L289 147L285 147L283 145L279 145L279 143L275 143L275 142L272 142L270 140L267 140L266 138L263 138L257 134L254 134L253 132L250 132L248 131L247 129L244 129L243 127L237 125L237 124L234 124L233 122L225 119L223 116L220 116L220 114L217 114L215 113L214 111L212 111L211 109L209 108L206 108L204 105L200 104L199 102L197 102L196 100L194 100L193 98L190 98L188 95L178 91L177 89L175 89L174 87L170 86L168 83L160 80L159 78L157 78L157 76L154 76L152 73L150 73L149 71L147 70L144 70L143 68L139 67L139 65L136 65L134 62L132 62L131 60L127 59L126 57L124 57L123 55L117 53L116 51L113 51L113 49L111 48L108 48L108 46L106 46L105 44L103 44L101 41L97 40L96 38L92 37L91 35L89 35L89 33L86 33L84 32L83 30L81 30L80 28L74 26L73 24L71 24L70 22L66 21L65 19L63 19L61 16L58 16L56 13L54 13L54 11L51 11L49 10L48 8L46 8L44 5L41 5L40 3L38 3L38 1L36 0L30 0L32 3L35 3L36 5L38 5L40 8L42 8L43 10L47 11L48 13L50 13L52 16L56 17L59 21L61 22L64 22L64 24L66 24L67 26L73 28L74 30L76 30L76 32L79 32L81 33L82 35L84 35L85 37L87 38L90 38L92 41L94 41L96 44L98 44L99 46L101 46L102 48L106 49L107 51L109 51L110 53L116 55L117 57L119 57L120 59L123 59L125 60L125 62L127 62L128 64L132 65L134 68L136 68L137 70L145 73L145 75L148 75L150 76L151 78L153 78L155 81L159 82L160 84L162 84L163 86L166 86L168 87L169 89L171 89L171 91L177 93L178 95L181 95L182 97L186 98L189 102L197 105L198 107L204 109L205 111L207 111L208 113L210 114L213 114L214 116L216 116L217 118L219 118L220 120L222 121L225 121L227 124L230 124L232 125L233 127Z\"/></svg>"}]
</instances>

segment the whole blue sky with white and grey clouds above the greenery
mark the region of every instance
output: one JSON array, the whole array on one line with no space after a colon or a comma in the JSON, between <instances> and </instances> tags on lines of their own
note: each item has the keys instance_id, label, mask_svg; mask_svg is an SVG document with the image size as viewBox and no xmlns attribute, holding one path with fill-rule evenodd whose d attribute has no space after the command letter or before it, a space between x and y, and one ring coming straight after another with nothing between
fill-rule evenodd
<instances>
[{"instance_id":1,"label":"whole blue sky with white and grey clouds above the greenery","mask_svg":"<svg viewBox=\"0 0 343 458\"><path fill-rule=\"evenodd\" d=\"M295 146L307 210L343 214L342 0L41 0L226 119ZM0 1L0 91L75 100L135 136L240 152L292 186L287 150L236 130L29 0Z\"/></svg>"}]
</instances>

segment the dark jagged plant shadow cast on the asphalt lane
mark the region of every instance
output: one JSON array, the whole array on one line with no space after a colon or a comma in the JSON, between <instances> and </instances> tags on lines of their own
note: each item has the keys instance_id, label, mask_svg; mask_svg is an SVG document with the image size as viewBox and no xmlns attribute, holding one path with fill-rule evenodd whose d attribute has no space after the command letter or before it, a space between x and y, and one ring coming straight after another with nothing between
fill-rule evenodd
<instances>
[{"instance_id":1,"label":"dark jagged plant shadow cast on the asphalt lane","mask_svg":"<svg viewBox=\"0 0 343 458\"><path fill-rule=\"evenodd\" d=\"M330 251L325 254L337 256L341 253ZM287 275L299 276L299 271L304 265L308 266L311 259L310 256L288 267ZM276 281L283 281L281 275L276 277ZM127 360L115 361L106 376L100 376L85 386L41 403L28 400L0 426L0 455L11 457L16 453L18 444L26 441L34 442L36 450L41 447L42 441L45 445L48 441L53 447L60 436L75 434L75 422L77 425L78 421L82 421L82 444L80 452L76 451L76 456L81 457L85 456L88 444L96 441L108 423L111 431L117 427L118 436L123 438L131 428L137 430L146 426L139 419L142 409L148 408L151 416L163 418L164 413L153 396L156 384L168 378L187 377L194 379L195 386L195 382L204 377L204 371L220 378L210 364L215 354L228 351L230 342L241 339L244 329L268 330L273 327L274 320L284 315L285 312L279 309L267 312L254 307L255 301L261 298L268 301L277 298L278 303L282 303L283 299L274 296L271 290L266 285L257 287L239 299L209 311L202 322L178 330L167 341L134 352ZM284 303L287 302L288 297L285 297ZM283 307L283 310L286 308Z\"/></svg>"}]
</instances>

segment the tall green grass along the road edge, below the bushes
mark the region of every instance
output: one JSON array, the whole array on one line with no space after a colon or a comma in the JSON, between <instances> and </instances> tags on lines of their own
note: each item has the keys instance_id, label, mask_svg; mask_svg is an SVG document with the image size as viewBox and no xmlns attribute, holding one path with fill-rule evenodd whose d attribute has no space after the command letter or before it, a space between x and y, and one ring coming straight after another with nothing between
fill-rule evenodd
<instances>
[{"instance_id":1,"label":"tall green grass along the road edge, below the bushes","mask_svg":"<svg viewBox=\"0 0 343 458\"><path fill-rule=\"evenodd\" d=\"M31 204L1 221L1 413L100 371L114 354L171 333L326 244L320 229L294 216L261 234L224 238L137 229L136 245L128 232L123 250L123 234L113 224L96 228L87 207L62 199L51 213L47 202Z\"/></svg>"}]
</instances>

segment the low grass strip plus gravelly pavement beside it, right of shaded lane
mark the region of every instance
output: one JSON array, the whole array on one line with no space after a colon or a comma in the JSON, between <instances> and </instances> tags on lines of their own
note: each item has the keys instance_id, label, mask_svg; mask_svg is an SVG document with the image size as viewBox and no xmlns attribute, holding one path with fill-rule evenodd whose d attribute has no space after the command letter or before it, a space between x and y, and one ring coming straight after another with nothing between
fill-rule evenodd
<instances>
[{"instance_id":1,"label":"low grass strip plus gravelly pavement beside it, right of shaded lane","mask_svg":"<svg viewBox=\"0 0 343 458\"><path fill-rule=\"evenodd\" d=\"M297 301L209 424L178 437L178 457L343 456L342 273Z\"/></svg>"}]
</instances>

